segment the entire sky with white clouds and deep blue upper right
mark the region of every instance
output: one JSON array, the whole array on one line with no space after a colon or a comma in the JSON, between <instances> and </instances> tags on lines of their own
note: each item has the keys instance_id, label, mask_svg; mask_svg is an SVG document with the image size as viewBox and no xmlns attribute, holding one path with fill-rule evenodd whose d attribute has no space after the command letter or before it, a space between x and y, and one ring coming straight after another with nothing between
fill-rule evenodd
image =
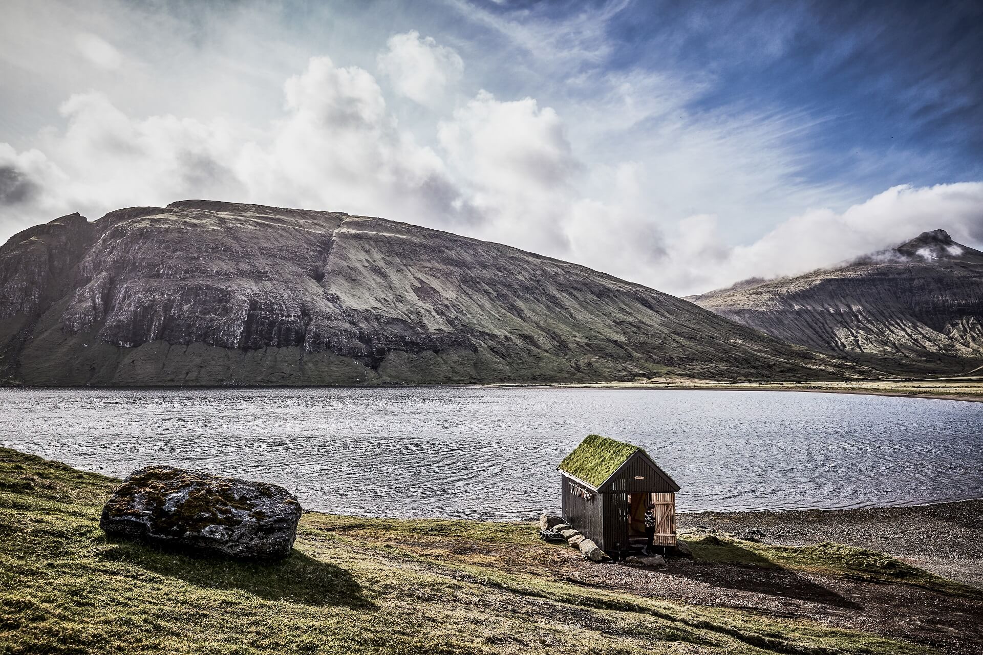
<instances>
[{"instance_id":1,"label":"entire sky with white clouds and deep blue upper right","mask_svg":"<svg viewBox=\"0 0 983 655\"><path fill-rule=\"evenodd\" d=\"M221 199L675 295L983 247L983 4L0 4L0 240Z\"/></svg>"}]
</instances>

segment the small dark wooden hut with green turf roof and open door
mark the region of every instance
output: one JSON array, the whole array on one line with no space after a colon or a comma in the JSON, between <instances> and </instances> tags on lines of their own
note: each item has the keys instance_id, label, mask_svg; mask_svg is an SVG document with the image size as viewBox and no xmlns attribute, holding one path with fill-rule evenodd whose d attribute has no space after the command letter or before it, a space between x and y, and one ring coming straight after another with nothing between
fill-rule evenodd
<instances>
[{"instance_id":1,"label":"small dark wooden hut with green turf roof and open door","mask_svg":"<svg viewBox=\"0 0 983 655\"><path fill-rule=\"evenodd\" d=\"M676 484L648 453L592 434L557 466L563 519L601 550L645 544L645 509L656 503L656 546L675 546Z\"/></svg>"}]
</instances>

